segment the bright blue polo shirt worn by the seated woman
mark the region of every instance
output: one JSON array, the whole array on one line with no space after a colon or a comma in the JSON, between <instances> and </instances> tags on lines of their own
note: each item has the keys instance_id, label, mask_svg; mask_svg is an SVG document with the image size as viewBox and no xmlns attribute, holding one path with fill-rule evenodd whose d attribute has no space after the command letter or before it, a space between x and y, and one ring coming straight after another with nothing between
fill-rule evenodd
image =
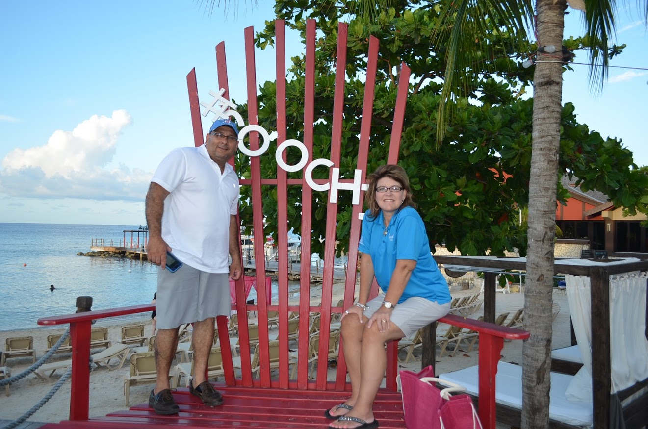
<instances>
[{"instance_id":1,"label":"bright blue polo shirt worn by the seated woman","mask_svg":"<svg viewBox=\"0 0 648 429\"><path fill-rule=\"evenodd\" d=\"M416 261L416 267L398 303L413 296L438 304L449 303L448 283L430 253L430 242L419 213L412 207L397 211L389 221L386 234L382 210L373 219L369 213L362 219L358 251L371 256L380 289L387 292L398 259L411 259Z\"/></svg>"}]
</instances>

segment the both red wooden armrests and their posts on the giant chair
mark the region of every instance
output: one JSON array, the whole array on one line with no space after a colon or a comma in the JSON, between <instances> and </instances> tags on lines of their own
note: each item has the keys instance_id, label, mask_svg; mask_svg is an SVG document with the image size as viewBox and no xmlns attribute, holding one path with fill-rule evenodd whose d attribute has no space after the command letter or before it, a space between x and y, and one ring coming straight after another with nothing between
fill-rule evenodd
<instances>
[{"instance_id":1,"label":"both red wooden armrests and their posts on the giant chair","mask_svg":"<svg viewBox=\"0 0 648 429\"><path fill-rule=\"evenodd\" d=\"M248 309L254 310L255 307L249 306ZM277 306L269 306L268 309L275 309L273 307ZM153 309L154 305L133 305L110 310L96 310L38 319L39 325L70 324L70 336L73 344L70 420L87 420L89 415L90 368L88 362L90 358L90 331L92 321L95 319L124 316L126 314L150 312ZM332 312L340 312L341 308L332 308L331 310ZM495 375L497 373L497 362L500 359L500 352L503 347L503 340L505 338L510 340L524 340L529 338L529 332L454 315L445 316L439 321L479 332L479 415L485 429L495 429ZM428 335L430 333L434 334L434 327L432 325L428 325L425 329ZM426 338L425 334L424 338ZM428 354L429 358L430 348L432 348L432 356L434 356L434 344L434 340L431 344L429 341L424 343L423 365L426 365L426 354ZM394 391L396 390L398 370L397 346L398 342L391 342L388 345L388 370L386 374L386 387ZM434 357L432 358L432 362L434 362Z\"/></svg>"}]
</instances>

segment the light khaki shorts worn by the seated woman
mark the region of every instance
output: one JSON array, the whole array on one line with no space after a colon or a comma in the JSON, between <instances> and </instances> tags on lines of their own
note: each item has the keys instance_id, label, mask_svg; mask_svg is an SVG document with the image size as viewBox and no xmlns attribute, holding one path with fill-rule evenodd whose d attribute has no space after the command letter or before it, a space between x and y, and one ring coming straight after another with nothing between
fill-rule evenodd
<instances>
[{"instance_id":1,"label":"light khaki shorts worn by the seated woman","mask_svg":"<svg viewBox=\"0 0 648 429\"><path fill-rule=\"evenodd\" d=\"M364 315L367 318L371 316L380 308L385 296L380 294L367 303L367 308L364 310ZM391 323L396 325L403 331L405 336L411 336L414 332L422 327L429 325L435 320L443 318L450 311L450 303L443 305L437 304L437 301L430 301L429 299L413 296L406 299L403 303L394 307L391 312Z\"/></svg>"}]
</instances>

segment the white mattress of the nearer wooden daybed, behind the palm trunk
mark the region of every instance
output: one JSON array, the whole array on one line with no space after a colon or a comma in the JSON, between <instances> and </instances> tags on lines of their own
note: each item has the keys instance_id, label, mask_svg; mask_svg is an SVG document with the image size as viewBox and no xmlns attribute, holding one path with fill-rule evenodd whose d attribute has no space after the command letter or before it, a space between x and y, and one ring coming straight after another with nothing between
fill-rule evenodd
<instances>
[{"instance_id":1,"label":"white mattress of the nearer wooden daybed, behind the palm trunk","mask_svg":"<svg viewBox=\"0 0 648 429\"><path fill-rule=\"evenodd\" d=\"M439 374L437 377L465 387L466 393L470 395L476 396L479 393L477 366ZM549 418L574 426L590 426L593 420L592 402L575 402L565 397L565 389L572 378L572 375L551 373ZM498 404L518 410L522 408L522 367L520 365L498 362L495 386L495 400Z\"/></svg>"}]
</instances>

